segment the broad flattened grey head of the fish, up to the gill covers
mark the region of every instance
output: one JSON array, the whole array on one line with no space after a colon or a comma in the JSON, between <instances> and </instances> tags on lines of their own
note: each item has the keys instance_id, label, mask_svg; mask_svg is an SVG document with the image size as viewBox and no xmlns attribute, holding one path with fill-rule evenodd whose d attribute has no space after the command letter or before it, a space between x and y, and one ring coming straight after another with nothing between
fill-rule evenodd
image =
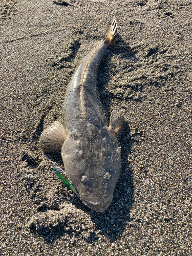
<instances>
[{"instance_id":1,"label":"broad flattened grey head of the fish, up to the gill covers","mask_svg":"<svg viewBox=\"0 0 192 256\"><path fill-rule=\"evenodd\" d=\"M81 199L95 211L103 212L112 200L121 168L118 141L108 127L89 127L84 135L68 135L61 156L65 171Z\"/></svg>"}]
</instances>

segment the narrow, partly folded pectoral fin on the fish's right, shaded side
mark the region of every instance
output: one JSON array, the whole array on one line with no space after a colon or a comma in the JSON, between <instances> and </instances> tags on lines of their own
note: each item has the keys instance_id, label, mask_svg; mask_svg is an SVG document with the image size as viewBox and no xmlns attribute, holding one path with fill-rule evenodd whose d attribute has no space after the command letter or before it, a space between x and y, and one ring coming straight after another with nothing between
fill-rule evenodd
<instances>
[{"instance_id":1,"label":"narrow, partly folded pectoral fin on the fish's right, shaded side","mask_svg":"<svg viewBox=\"0 0 192 256\"><path fill-rule=\"evenodd\" d=\"M110 117L110 126L109 126L109 131L111 133L113 133L113 135L115 137L118 136L118 133L121 130L122 124L124 122L124 117L121 115L121 113L117 112L117 111L113 111L111 113L111 117Z\"/></svg>"}]
</instances>

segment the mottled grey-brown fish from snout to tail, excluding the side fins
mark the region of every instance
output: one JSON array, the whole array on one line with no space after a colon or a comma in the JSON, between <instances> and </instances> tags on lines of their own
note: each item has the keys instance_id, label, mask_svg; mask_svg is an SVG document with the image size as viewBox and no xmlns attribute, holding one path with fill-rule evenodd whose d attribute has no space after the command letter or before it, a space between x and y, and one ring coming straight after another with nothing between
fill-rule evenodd
<instances>
[{"instance_id":1,"label":"mottled grey-brown fish from snout to tail, excluding the side fins","mask_svg":"<svg viewBox=\"0 0 192 256\"><path fill-rule=\"evenodd\" d=\"M99 62L117 33L115 18L112 25L115 31L111 38L109 31L106 39L82 60L69 83L63 106L67 139L61 155L67 176L82 200L100 212L112 202L121 168L119 143L104 120L96 87Z\"/></svg>"}]
</instances>

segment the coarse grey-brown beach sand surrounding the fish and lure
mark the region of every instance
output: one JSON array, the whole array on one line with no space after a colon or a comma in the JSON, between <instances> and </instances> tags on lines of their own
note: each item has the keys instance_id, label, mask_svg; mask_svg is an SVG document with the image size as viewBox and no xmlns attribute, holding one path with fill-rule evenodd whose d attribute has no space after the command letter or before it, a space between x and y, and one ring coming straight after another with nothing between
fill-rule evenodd
<instances>
[{"instance_id":1,"label":"coarse grey-brown beach sand surrounding the fish and lure","mask_svg":"<svg viewBox=\"0 0 192 256\"><path fill-rule=\"evenodd\" d=\"M191 3L1 2L1 255L192 254ZM101 214L58 179L60 155L38 141L114 15L120 36L97 82L106 115L125 118L122 170Z\"/></svg>"}]
</instances>

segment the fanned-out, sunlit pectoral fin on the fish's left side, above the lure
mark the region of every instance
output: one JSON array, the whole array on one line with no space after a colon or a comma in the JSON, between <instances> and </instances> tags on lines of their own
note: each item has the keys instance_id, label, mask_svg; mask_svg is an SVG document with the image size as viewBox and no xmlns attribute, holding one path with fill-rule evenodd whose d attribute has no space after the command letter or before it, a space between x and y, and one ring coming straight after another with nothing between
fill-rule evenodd
<instances>
[{"instance_id":1,"label":"fanned-out, sunlit pectoral fin on the fish's left side, above the lure","mask_svg":"<svg viewBox=\"0 0 192 256\"><path fill-rule=\"evenodd\" d=\"M61 150L67 134L64 126L56 121L51 124L40 136L39 143L45 153L57 152Z\"/></svg>"}]
</instances>

